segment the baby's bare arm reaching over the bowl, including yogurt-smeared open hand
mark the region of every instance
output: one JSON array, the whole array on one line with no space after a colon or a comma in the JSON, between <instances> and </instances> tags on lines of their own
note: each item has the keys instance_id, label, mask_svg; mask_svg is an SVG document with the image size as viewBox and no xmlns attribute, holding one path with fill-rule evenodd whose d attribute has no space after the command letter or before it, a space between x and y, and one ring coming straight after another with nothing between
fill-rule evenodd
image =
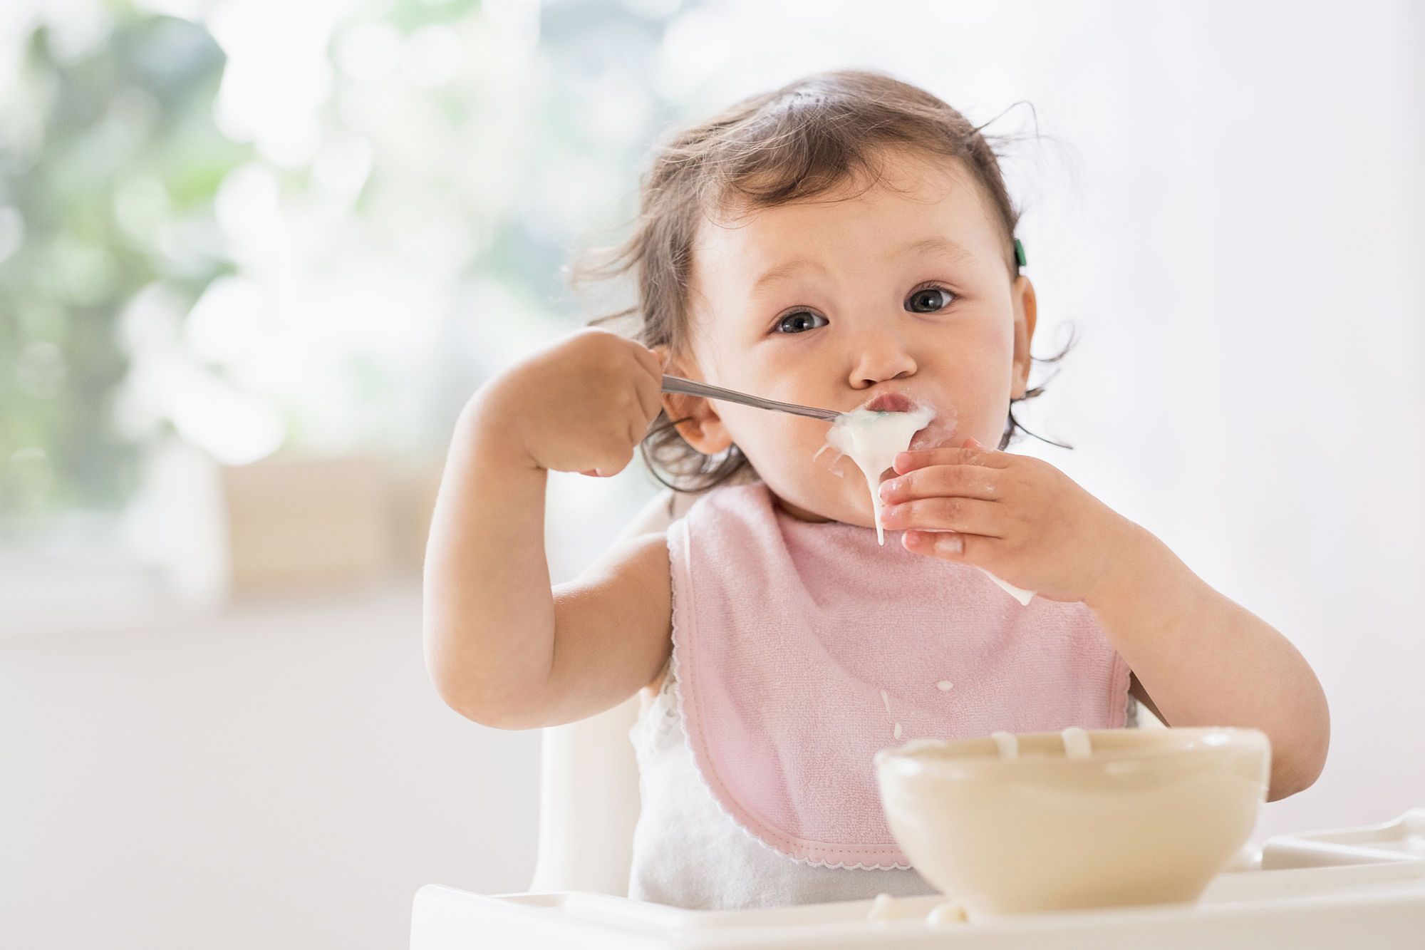
<instances>
[{"instance_id":1,"label":"baby's bare arm reaching over the bowl, including yogurt-smeared open hand","mask_svg":"<svg viewBox=\"0 0 1425 950\"><path fill-rule=\"evenodd\" d=\"M1311 666L1166 543L1037 458L960 448L896 456L881 521L908 551L970 563L1050 601L1082 601L1168 726L1253 726L1271 740L1268 799L1321 773L1331 715Z\"/></svg>"}]
</instances>

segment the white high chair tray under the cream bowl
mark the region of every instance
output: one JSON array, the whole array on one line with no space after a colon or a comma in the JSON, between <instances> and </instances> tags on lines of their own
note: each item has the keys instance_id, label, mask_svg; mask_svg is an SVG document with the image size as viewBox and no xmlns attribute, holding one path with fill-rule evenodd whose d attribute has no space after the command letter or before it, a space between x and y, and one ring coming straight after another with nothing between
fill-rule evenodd
<instances>
[{"instance_id":1,"label":"white high chair tray under the cream bowl","mask_svg":"<svg viewBox=\"0 0 1425 950\"><path fill-rule=\"evenodd\" d=\"M1425 809L1365 827L1268 839L1250 870L1218 874L1198 903L1045 913L932 927L938 894L762 910L683 910L627 897L563 892L416 893L412 950L472 947L965 947L1010 950L1425 947Z\"/></svg>"}]
</instances>

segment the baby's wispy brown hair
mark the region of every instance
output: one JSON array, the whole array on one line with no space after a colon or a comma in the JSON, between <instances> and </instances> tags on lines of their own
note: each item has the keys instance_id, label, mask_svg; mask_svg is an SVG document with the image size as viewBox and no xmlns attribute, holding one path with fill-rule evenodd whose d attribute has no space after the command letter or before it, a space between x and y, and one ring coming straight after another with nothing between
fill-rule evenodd
<instances>
[{"instance_id":1,"label":"baby's wispy brown hair","mask_svg":"<svg viewBox=\"0 0 1425 950\"><path fill-rule=\"evenodd\" d=\"M1003 227L1005 261L1015 278L1020 213L980 128L915 86L881 73L839 70L752 96L707 121L677 130L654 150L640 180L633 234L618 247L594 252L603 260L571 268L576 285L630 272L636 278L637 304L590 322L633 317L638 320L633 331L638 342L683 352L688 339L693 241L703 215L730 204L765 208L814 198L858 174L866 175L871 188L879 180L878 154L886 148L913 148L963 163ZM1056 362L1072 347L1073 339L1057 357L1040 362ZM1042 392L1040 385L1010 399L1000 449L1016 431L1029 432L1015 419L1013 404ZM660 482L695 492L737 475L755 475L737 445L710 456L684 442L675 428L683 421L660 412L643 439L644 461Z\"/></svg>"}]
</instances>

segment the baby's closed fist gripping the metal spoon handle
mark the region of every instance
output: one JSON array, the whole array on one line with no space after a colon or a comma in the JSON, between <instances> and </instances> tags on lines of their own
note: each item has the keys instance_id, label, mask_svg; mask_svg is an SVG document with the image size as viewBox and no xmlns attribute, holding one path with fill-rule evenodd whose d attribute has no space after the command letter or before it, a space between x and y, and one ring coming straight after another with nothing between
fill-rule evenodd
<instances>
[{"instance_id":1,"label":"baby's closed fist gripping the metal spoon handle","mask_svg":"<svg viewBox=\"0 0 1425 950\"><path fill-rule=\"evenodd\" d=\"M590 328L487 382L475 411L540 468L614 475L658 418L661 391L658 354Z\"/></svg>"}]
</instances>

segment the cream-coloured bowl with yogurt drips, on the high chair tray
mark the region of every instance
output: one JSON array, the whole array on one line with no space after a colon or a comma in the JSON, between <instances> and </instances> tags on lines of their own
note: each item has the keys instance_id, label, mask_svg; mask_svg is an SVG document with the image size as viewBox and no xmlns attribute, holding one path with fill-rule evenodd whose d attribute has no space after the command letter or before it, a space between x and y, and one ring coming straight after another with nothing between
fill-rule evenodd
<instances>
[{"instance_id":1,"label":"cream-coloured bowl with yogurt drips, on the high chair tray","mask_svg":"<svg viewBox=\"0 0 1425 950\"><path fill-rule=\"evenodd\" d=\"M1087 730L916 739L876 753L901 849L972 917L1191 903L1237 853L1267 797L1271 747L1255 729Z\"/></svg>"}]
</instances>

